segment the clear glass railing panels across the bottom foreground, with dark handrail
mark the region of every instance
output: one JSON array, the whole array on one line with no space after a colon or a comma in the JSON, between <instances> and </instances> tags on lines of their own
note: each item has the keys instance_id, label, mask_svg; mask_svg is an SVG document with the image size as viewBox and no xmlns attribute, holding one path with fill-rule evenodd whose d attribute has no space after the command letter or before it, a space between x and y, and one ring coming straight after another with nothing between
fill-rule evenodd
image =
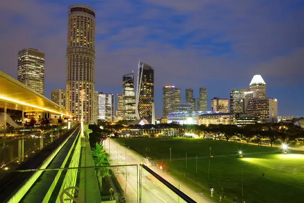
<instances>
[{"instance_id":1,"label":"clear glass railing panels across the bottom foreground, with dark handrail","mask_svg":"<svg viewBox=\"0 0 304 203\"><path fill-rule=\"evenodd\" d=\"M186 202L140 165L1 170L1 173L10 180L0 193L5 201ZM14 185L18 183L15 179L23 180L22 188Z\"/></svg>"}]
</instances>

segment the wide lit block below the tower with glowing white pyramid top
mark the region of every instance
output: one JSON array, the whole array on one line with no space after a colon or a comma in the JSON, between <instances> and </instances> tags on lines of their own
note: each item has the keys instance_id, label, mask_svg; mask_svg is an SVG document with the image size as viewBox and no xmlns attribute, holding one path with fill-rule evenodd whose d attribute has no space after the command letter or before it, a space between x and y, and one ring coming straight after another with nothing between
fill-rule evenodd
<instances>
[{"instance_id":1,"label":"wide lit block below the tower with glowing white pyramid top","mask_svg":"<svg viewBox=\"0 0 304 203\"><path fill-rule=\"evenodd\" d=\"M261 122L278 121L278 99L276 98L253 98L241 101L242 112L252 114Z\"/></svg>"}]
</instances>

